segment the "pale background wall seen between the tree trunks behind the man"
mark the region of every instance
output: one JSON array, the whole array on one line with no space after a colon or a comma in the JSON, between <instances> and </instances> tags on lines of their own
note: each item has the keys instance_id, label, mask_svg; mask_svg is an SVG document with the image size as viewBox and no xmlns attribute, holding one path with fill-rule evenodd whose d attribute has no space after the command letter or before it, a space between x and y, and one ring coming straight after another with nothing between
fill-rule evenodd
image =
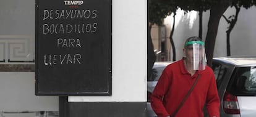
<instances>
[{"instance_id":1,"label":"pale background wall seen between the tree trunks behind the man","mask_svg":"<svg viewBox=\"0 0 256 117\"><path fill-rule=\"evenodd\" d=\"M250 9L241 8L239 12L238 20L231 31L231 55L255 55L255 43L256 43L256 7L250 7ZM224 15L229 17L235 14L234 8L229 7ZM205 39L207 34L207 25L210 16L210 11L203 12L203 32L202 36ZM182 48L184 41L190 36L198 36L198 14L195 11L184 14L184 11L178 10L176 15L176 23L174 29L174 44L176 46L176 59L179 60L182 57ZM167 17L164 22L173 24L173 15ZM228 23L221 17L218 34L216 36L215 50L213 57L226 56L226 30ZM169 34L168 34L169 36Z\"/></svg>"}]
</instances>

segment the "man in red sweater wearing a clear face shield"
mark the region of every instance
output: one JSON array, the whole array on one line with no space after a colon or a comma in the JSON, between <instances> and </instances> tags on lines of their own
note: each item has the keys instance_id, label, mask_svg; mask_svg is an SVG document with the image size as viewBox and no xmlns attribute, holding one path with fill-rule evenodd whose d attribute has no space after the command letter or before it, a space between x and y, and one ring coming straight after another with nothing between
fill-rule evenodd
<instances>
[{"instance_id":1,"label":"man in red sweater wearing a clear face shield","mask_svg":"<svg viewBox=\"0 0 256 117\"><path fill-rule=\"evenodd\" d=\"M158 117L203 117L203 107L207 106L210 117L220 116L220 99L213 70L206 65L202 39L190 37L184 44L181 60L171 63L164 70L151 95L151 107ZM189 89L197 84L179 110Z\"/></svg>"}]
</instances>

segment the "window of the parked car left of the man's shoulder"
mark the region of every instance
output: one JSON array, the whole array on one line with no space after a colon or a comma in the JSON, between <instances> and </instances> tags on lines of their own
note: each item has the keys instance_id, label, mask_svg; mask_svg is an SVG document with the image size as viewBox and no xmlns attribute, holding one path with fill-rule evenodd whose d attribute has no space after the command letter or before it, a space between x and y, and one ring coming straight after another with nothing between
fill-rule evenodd
<instances>
[{"instance_id":1,"label":"window of the parked car left of the man's shoulder","mask_svg":"<svg viewBox=\"0 0 256 117\"><path fill-rule=\"evenodd\" d=\"M151 75L150 79L148 79L148 81L158 81L158 79L160 78L164 68L165 68L165 66L163 66L163 67L154 67L153 70L152 70L152 75Z\"/></svg>"}]
</instances>

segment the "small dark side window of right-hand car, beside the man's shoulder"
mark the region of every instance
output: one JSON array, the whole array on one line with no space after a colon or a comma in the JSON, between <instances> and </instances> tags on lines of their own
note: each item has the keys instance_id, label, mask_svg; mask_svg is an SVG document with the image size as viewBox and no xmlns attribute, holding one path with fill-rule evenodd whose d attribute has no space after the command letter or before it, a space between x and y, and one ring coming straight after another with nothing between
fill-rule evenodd
<instances>
[{"instance_id":1,"label":"small dark side window of right-hand car, beside the man's shoulder","mask_svg":"<svg viewBox=\"0 0 256 117\"><path fill-rule=\"evenodd\" d=\"M218 62L213 62L211 68L215 74L217 87L220 87L220 84L224 79L224 75L226 74L227 68Z\"/></svg>"}]
</instances>

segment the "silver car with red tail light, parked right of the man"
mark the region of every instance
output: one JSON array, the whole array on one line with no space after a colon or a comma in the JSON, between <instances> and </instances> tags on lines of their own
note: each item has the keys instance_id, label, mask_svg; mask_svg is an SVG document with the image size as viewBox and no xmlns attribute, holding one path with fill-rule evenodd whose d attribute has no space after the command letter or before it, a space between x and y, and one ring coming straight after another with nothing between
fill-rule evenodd
<instances>
[{"instance_id":1,"label":"silver car with red tail light, parked right of the man","mask_svg":"<svg viewBox=\"0 0 256 117\"><path fill-rule=\"evenodd\" d=\"M220 116L256 116L256 56L213 58Z\"/></svg>"}]
</instances>

